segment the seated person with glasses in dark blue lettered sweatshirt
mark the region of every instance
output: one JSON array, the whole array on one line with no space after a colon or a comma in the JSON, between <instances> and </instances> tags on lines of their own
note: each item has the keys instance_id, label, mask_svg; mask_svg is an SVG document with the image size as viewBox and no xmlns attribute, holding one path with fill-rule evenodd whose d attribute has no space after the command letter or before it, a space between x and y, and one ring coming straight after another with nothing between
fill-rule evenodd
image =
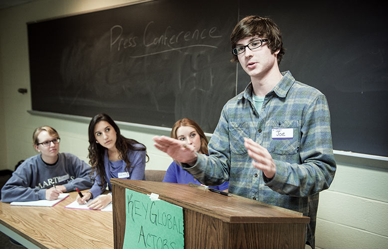
<instances>
[{"instance_id":1,"label":"seated person with glasses in dark blue lettered sweatshirt","mask_svg":"<svg viewBox=\"0 0 388 249\"><path fill-rule=\"evenodd\" d=\"M91 166L70 153L59 153L60 137L50 126L35 129L33 144L40 154L26 159L1 189L1 201L55 200L60 193L88 189Z\"/></svg>"}]
</instances>

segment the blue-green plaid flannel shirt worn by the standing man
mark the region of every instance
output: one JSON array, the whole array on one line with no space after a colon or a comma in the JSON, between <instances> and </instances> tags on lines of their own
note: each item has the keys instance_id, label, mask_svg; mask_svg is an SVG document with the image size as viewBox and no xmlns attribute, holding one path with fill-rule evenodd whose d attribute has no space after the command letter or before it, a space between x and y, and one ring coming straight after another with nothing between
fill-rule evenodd
<instances>
[{"instance_id":1,"label":"blue-green plaid flannel shirt worn by the standing man","mask_svg":"<svg viewBox=\"0 0 388 249\"><path fill-rule=\"evenodd\" d=\"M310 217L306 243L314 248L319 192L335 174L326 97L284 72L282 80L254 108L252 83L229 100L210 139L209 156L198 154L183 167L206 185L229 180L229 192ZM292 139L273 139L273 128L292 128ZM252 166L244 137L267 148L276 164L272 179Z\"/></svg>"}]
</instances>

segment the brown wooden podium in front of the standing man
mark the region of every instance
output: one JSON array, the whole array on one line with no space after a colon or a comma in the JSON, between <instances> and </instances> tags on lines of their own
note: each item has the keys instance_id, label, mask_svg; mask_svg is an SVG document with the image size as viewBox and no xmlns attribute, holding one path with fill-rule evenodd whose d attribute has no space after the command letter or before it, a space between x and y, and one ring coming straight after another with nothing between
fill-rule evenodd
<instances>
[{"instance_id":1,"label":"brown wooden podium in front of the standing man","mask_svg":"<svg viewBox=\"0 0 388 249\"><path fill-rule=\"evenodd\" d=\"M187 184L111 179L114 249L122 249L125 233L125 189L159 194L181 206L185 249L304 249L301 213L247 198L227 197ZM124 221L124 222L123 222Z\"/></svg>"}]
</instances>

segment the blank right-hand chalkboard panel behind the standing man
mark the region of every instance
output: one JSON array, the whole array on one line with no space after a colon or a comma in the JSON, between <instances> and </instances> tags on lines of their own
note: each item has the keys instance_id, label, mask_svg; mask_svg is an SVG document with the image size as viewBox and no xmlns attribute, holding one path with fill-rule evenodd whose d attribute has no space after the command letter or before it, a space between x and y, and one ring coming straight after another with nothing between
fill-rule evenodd
<instances>
[{"instance_id":1,"label":"blank right-hand chalkboard panel behind the standing man","mask_svg":"<svg viewBox=\"0 0 388 249\"><path fill-rule=\"evenodd\" d=\"M388 17L374 1L240 1L240 17L272 18L282 30L281 71L329 103L333 147L388 156ZM238 71L238 91L249 77Z\"/></svg>"}]
</instances>

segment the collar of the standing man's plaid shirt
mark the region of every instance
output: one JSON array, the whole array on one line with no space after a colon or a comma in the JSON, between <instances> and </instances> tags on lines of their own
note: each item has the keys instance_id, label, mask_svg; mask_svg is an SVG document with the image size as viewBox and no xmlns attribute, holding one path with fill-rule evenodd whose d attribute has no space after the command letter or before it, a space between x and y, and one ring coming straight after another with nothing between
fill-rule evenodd
<instances>
[{"instance_id":1,"label":"collar of the standing man's plaid shirt","mask_svg":"<svg viewBox=\"0 0 388 249\"><path fill-rule=\"evenodd\" d=\"M279 83L272 89L267 95L275 93L280 98L286 98L287 93L289 92L292 84L294 83L295 79L291 75L290 71L286 71L282 73L283 78L279 81ZM242 98L245 98L247 100L252 99L252 82L248 84L248 86L245 88L244 93L238 98L241 100Z\"/></svg>"}]
</instances>

